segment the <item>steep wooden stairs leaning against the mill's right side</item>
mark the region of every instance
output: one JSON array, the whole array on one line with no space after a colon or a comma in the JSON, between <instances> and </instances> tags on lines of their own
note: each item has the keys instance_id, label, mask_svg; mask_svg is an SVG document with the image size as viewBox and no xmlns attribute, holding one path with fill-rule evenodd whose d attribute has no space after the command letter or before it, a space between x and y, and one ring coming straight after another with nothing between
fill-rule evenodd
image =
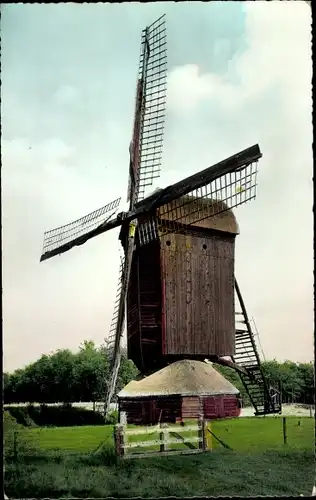
<instances>
[{"instance_id":1,"label":"steep wooden stairs leaning against the mill's right side","mask_svg":"<svg viewBox=\"0 0 316 500\"><path fill-rule=\"evenodd\" d=\"M269 386L263 374L254 335L236 279L235 291L240 311L235 313L235 355L231 359L240 367L245 368L249 374L245 375L239 372L239 377L255 409L255 415L281 413L280 393Z\"/></svg>"}]
</instances>

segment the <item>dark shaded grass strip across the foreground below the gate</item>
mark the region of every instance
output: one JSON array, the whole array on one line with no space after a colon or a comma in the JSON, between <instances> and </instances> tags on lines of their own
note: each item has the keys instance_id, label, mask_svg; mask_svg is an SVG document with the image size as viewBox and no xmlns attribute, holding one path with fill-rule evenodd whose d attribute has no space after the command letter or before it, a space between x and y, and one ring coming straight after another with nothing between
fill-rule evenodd
<instances>
[{"instance_id":1,"label":"dark shaded grass strip across the foreground below the gate","mask_svg":"<svg viewBox=\"0 0 316 500\"><path fill-rule=\"evenodd\" d=\"M201 455L117 460L102 447L93 454L50 452L6 466L7 495L15 498L310 495L313 453L256 455L218 450Z\"/></svg>"}]
</instances>

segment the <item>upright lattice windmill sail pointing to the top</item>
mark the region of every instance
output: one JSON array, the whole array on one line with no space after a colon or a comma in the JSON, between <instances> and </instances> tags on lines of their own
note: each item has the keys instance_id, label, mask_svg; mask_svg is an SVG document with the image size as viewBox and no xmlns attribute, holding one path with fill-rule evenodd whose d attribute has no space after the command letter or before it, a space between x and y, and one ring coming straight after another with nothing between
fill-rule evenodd
<instances>
[{"instance_id":1,"label":"upright lattice windmill sail pointing to the top","mask_svg":"<svg viewBox=\"0 0 316 500\"><path fill-rule=\"evenodd\" d=\"M130 146L130 209L160 175L167 90L165 15L142 32L133 139Z\"/></svg>"}]
</instances>

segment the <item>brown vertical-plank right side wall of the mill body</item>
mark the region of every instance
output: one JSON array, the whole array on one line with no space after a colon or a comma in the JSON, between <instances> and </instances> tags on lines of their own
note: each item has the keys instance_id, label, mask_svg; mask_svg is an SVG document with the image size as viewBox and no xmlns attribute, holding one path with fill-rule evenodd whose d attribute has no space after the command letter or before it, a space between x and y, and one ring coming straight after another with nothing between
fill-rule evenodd
<instances>
[{"instance_id":1,"label":"brown vertical-plank right side wall of the mill body","mask_svg":"<svg viewBox=\"0 0 316 500\"><path fill-rule=\"evenodd\" d=\"M234 239L212 231L162 239L165 354L234 354Z\"/></svg>"}]
</instances>

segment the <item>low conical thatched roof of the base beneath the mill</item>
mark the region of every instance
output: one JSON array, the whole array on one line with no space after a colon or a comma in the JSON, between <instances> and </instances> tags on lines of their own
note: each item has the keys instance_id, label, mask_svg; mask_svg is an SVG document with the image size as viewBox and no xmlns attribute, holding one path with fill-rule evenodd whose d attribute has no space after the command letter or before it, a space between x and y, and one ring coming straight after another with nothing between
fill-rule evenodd
<instances>
[{"instance_id":1,"label":"low conical thatched roof of the base beneath the mill","mask_svg":"<svg viewBox=\"0 0 316 500\"><path fill-rule=\"evenodd\" d=\"M212 364L203 361L176 361L142 380L132 380L119 398L147 396L215 396L239 394Z\"/></svg>"}]
</instances>

